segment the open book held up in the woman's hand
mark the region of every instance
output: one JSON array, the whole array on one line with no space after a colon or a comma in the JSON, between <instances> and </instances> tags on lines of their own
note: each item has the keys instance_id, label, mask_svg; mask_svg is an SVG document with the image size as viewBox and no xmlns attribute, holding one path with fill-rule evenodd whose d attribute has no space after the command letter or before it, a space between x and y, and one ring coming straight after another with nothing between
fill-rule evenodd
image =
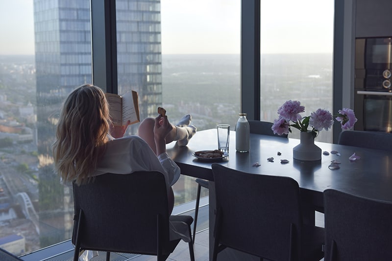
<instances>
[{"instance_id":1,"label":"open book held up in the woman's hand","mask_svg":"<svg viewBox=\"0 0 392 261\"><path fill-rule=\"evenodd\" d=\"M127 92L123 95L105 93L109 103L110 119L114 126L124 126L129 120L134 124L140 122L138 93L136 91Z\"/></svg>"}]
</instances>

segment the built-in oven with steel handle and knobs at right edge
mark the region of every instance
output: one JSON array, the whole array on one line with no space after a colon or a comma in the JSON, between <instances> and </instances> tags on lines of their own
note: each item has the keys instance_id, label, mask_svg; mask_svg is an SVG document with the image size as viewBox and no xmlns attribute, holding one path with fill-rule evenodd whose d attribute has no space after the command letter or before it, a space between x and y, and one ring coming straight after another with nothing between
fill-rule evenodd
<instances>
[{"instance_id":1,"label":"built-in oven with steel handle and knobs at right edge","mask_svg":"<svg viewBox=\"0 0 392 261\"><path fill-rule=\"evenodd\" d=\"M355 130L392 133L392 37L355 40Z\"/></svg>"}]
</instances>

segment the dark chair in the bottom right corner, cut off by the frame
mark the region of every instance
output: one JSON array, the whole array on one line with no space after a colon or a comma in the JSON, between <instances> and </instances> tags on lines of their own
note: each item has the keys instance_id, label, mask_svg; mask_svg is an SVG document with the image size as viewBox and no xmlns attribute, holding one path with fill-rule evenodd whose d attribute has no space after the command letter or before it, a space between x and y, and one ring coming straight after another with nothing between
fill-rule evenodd
<instances>
[{"instance_id":1,"label":"dark chair in the bottom right corner, cut off by the frame","mask_svg":"<svg viewBox=\"0 0 392 261\"><path fill-rule=\"evenodd\" d=\"M391 261L392 203L324 191L325 261Z\"/></svg>"}]
</instances>

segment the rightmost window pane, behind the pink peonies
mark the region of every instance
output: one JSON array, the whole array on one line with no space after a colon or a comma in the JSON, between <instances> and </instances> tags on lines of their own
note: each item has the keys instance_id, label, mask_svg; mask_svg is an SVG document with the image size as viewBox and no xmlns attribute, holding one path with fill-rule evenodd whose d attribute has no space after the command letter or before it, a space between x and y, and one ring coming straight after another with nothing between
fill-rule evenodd
<instances>
[{"instance_id":1,"label":"rightmost window pane, behind the pink peonies","mask_svg":"<svg viewBox=\"0 0 392 261\"><path fill-rule=\"evenodd\" d=\"M287 100L305 106L302 116L319 108L337 113L332 111L333 19L333 0L261 1L261 120L273 122ZM299 138L299 131L292 131L289 137ZM320 131L317 140L332 142L332 131Z\"/></svg>"}]
</instances>

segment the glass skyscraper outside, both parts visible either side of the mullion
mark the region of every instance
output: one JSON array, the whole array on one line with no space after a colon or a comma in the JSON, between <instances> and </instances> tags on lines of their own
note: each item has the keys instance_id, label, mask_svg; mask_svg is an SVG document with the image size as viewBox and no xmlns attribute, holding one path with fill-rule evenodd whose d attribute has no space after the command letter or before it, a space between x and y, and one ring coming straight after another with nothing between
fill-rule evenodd
<instances>
[{"instance_id":1,"label":"glass skyscraper outside, both parts visible either side of the mullion","mask_svg":"<svg viewBox=\"0 0 392 261\"><path fill-rule=\"evenodd\" d=\"M141 119L162 104L159 0L117 0L119 94L139 93ZM41 247L70 239L70 190L50 161L59 109L77 86L92 82L90 0L34 0ZM135 133L137 126L129 128Z\"/></svg>"}]
</instances>

